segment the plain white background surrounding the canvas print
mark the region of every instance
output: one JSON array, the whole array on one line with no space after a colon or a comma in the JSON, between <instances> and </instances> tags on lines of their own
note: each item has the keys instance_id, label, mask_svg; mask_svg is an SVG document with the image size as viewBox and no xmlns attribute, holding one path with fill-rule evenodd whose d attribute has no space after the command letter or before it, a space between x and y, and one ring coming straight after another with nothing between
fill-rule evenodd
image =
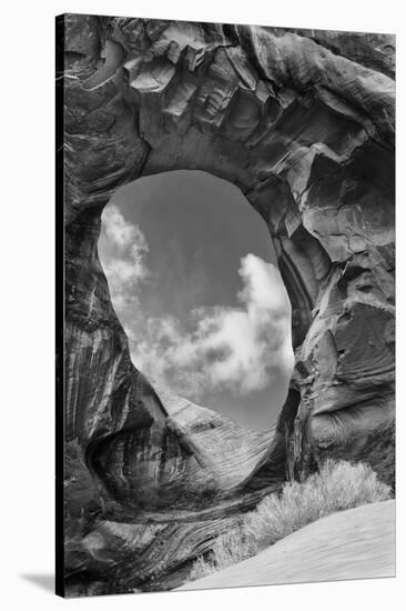
<instances>
[{"instance_id":1,"label":"plain white background surrounding the canvas print","mask_svg":"<svg viewBox=\"0 0 406 611\"><path fill-rule=\"evenodd\" d=\"M397 578L304 585L139 594L63 601L53 573L53 293L54 293L54 16L89 12L397 33L397 143L405 138L403 2L339 0L151 0L3 2L0 34L0 605L2 609L400 609L405 561ZM402 26L404 29L402 29ZM6 138L4 138L6 132ZM405 537L404 479L404 194L398 156L398 541ZM40 583L39 583L40 582ZM42 583L42 585L41 585Z\"/></svg>"}]
</instances>

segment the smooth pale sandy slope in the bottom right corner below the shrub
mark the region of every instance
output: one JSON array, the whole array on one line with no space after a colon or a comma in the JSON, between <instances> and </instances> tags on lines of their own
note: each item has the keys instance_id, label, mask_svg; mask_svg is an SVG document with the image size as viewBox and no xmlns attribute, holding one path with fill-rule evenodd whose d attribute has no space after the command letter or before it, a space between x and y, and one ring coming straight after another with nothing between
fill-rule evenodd
<instances>
[{"instance_id":1,"label":"smooth pale sandy slope in the bottom right corner below the shrub","mask_svg":"<svg viewBox=\"0 0 406 611\"><path fill-rule=\"evenodd\" d=\"M395 575L395 501L334 513L180 590Z\"/></svg>"}]
</instances>

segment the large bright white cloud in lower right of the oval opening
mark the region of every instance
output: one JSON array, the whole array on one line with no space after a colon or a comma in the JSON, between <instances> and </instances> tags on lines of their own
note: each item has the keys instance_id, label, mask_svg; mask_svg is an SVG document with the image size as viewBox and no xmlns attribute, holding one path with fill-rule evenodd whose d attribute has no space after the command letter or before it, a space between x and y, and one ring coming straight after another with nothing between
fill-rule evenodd
<instances>
[{"instance_id":1,"label":"large bright white cloud in lower right of the oval opening","mask_svg":"<svg viewBox=\"0 0 406 611\"><path fill-rule=\"evenodd\" d=\"M291 311L276 268L250 253L238 273L241 307L194 310L192 332L174 318L148 319L134 338L135 365L194 399L216 390L262 390L277 370L291 370Z\"/></svg>"}]
</instances>

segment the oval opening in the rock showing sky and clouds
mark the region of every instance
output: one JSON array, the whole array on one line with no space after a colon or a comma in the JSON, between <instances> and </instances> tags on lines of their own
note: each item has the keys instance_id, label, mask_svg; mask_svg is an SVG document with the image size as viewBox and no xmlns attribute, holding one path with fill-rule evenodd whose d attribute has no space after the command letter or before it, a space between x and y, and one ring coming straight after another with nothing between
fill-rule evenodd
<instances>
[{"instance_id":1,"label":"oval opening in the rock showing sky and clouds","mask_svg":"<svg viewBox=\"0 0 406 611\"><path fill-rule=\"evenodd\" d=\"M293 368L291 306L266 224L196 171L138 179L103 210L99 258L131 360L161 391L266 431Z\"/></svg>"}]
</instances>

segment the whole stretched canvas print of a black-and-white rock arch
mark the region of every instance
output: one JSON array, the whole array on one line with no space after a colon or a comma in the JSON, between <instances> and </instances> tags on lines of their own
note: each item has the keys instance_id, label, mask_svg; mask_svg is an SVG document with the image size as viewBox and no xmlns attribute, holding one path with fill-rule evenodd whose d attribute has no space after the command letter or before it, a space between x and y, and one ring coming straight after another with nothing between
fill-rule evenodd
<instances>
[{"instance_id":1,"label":"whole stretched canvas print of a black-and-white rock arch","mask_svg":"<svg viewBox=\"0 0 406 611\"><path fill-rule=\"evenodd\" d=\"M57 593L394 575L394 70L57 18Z\"/></svg>"}]
</instances>

